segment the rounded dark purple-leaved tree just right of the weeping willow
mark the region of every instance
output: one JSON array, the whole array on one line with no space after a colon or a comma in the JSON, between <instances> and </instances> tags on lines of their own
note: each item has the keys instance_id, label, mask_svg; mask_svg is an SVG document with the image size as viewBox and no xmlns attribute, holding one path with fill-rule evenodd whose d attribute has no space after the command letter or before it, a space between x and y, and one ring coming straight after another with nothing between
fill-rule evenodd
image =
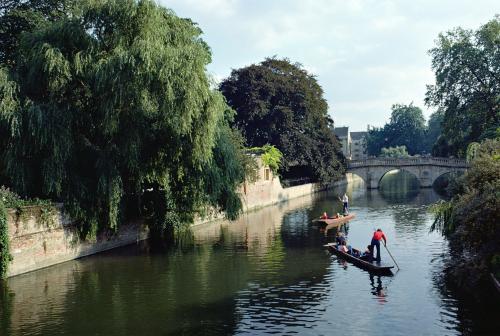
<instances>
[{"instance_id":1,"label":"rounded dark purple-leaved tree just right of the weeping willow","mask_svg":"<svg viewBox=\"0 0 500 336\"><path fill-rule=\"evenodd\" d=\"M233 70L220 89L237 111L234 125L247 144L271 144L283 153L285 178L300 175L329 183L342 175L323 90L299 64L268 58Z\"/></svg>"}]
</instances>

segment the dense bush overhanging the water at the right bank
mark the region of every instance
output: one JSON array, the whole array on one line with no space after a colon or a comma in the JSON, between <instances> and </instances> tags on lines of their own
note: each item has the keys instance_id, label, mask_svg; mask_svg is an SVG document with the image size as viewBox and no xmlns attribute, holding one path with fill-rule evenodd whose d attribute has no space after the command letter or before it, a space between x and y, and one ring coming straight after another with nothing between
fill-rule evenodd
<instances>
[{"instance_id":1,"label":"dense bush overhanging the water at the right bank","mask_svg":"<svg viewBox=\"0 0 500 336\"><path fill-rule=\"evenodd\" d=\"M499 154L499 139L481 143L470 169L452 190L451 200L434 207L432 229L449 238L452 253L463 261L457 261L456 268L475 265L474 276L491 271L493 257L500 254Z\"/></svg>"}]
</instances>

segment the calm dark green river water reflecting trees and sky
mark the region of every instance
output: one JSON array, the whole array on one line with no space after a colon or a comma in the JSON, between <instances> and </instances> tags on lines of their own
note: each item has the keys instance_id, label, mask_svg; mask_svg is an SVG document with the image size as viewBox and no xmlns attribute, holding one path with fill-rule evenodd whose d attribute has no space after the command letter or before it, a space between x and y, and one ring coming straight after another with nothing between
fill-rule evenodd
<instances>
[{"instance_id":1,"label":"calm dark green river water reflecting trees and sky","mask_svg":"<svg viewBox=\"0 0 500 336\"><path fill-rule=\"evenodd\" d=\"M322 247L335 230L311 219L341 210L336 190L196 226L168 250L144 242L11 278L0 335L498 335L498 304L442 280L447 245L428 211L439 196L396 182L350 185L356 219L342 228L360 248L381 228L392 277Z\"/></svg>"}]
</instances>

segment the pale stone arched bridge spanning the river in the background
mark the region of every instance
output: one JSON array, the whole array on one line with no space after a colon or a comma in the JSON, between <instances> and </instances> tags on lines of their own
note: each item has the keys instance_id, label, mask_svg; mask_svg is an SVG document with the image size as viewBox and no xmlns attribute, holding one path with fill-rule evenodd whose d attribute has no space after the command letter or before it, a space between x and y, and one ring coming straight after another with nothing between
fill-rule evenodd
<instances>
[{"instance_id":1,"label":"pale stone arched bridge spanning the river in the background","mask_svg":"<svg viewBox=\"0 0 500 336\"><path fill-rule=\"evenodd\" d=\"M361 177L368 189L378 189L380 180L392 170L415 175L421 188L432 187L438 177L447 173L463 173L469 165L462 159L437 157L375 158L350 161L347 172Z\"/></svg>"}]
</instances>

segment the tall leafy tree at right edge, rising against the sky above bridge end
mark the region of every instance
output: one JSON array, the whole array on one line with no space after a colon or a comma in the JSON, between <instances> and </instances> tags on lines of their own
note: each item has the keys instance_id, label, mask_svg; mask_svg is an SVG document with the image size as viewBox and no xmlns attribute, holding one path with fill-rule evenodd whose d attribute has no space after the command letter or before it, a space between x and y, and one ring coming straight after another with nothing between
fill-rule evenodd
<instances>
[{"instance_id":1,"label":"tall leafy tree at right edge, rising against the sky above bridge end","mask_svg":"<svg viewBox=\"0 0 500 336\"><path fill-rule=\"evenodd\" d=\"M500 17L477 31L440 34L430 55L436 84L426 103L444 111L439 148L463 157L470 142L493 138L500 127Z\"/></svg>"}]
</instances>

